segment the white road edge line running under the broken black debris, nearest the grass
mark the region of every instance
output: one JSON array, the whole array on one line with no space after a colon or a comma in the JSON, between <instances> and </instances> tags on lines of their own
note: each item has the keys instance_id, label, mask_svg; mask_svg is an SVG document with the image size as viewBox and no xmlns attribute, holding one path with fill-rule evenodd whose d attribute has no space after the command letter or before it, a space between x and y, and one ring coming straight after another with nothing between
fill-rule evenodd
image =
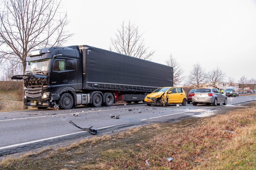
<instances>
[{"instance_id":1,"label":"white road edge line running under the broken black debris, nearest the grass","mask_svg":"<svg viewBox=\"0 0 256 170\"><path fill-rule=\"evenodd\" d=\"M112 126L101 127L101 128L97 128L97 130L98 130L98 129L103 129L103 128L114 127L114 126L118 126L118 125L123 125L123 124L127 124L127 123L122 123L122 124L117 124L117 125L112 125ZM36 142L47 141L47 140L56 139L56 138L60 138L60 137L64 137L64 136L69 136L69 135L73 135L73 134L79 134L79 133L83 133L83 132L87 132L87 131L75 132L75 133L71 133L71 134L65 134L65 135L60 135L60 136L54 136L54 137L45 138L45 139L38 139L38 140L36 140L36 141L29 141L29 142L17 143L17 144L9 145L9 146L3 146L3 147L0 147L0 150L1 150L1 149L7 149L7 148L10 148L10 147L17 147L17 146L21 146L21 145L28 145L28 144L36 143Z\"/></svg>"}]
</instances>

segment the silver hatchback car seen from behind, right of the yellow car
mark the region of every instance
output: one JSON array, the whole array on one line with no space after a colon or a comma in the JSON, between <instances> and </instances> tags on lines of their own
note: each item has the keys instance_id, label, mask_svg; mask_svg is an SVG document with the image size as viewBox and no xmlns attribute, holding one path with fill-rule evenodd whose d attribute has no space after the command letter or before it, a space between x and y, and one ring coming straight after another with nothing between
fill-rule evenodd
<instances>
[{"instance_id":1,"label":"silver hatchback car seen from behind, right of the yellow car","mask_svg":"<svg viewBox=\"0 0 256 170\"><path fill-rule=\"evenodd\" d=\"M226 105L227 97L216 88L197 88L192 94L192 104L196 106L199 103L212 104L213 106L221 103Z\"/></svg>"}]
</instances>

